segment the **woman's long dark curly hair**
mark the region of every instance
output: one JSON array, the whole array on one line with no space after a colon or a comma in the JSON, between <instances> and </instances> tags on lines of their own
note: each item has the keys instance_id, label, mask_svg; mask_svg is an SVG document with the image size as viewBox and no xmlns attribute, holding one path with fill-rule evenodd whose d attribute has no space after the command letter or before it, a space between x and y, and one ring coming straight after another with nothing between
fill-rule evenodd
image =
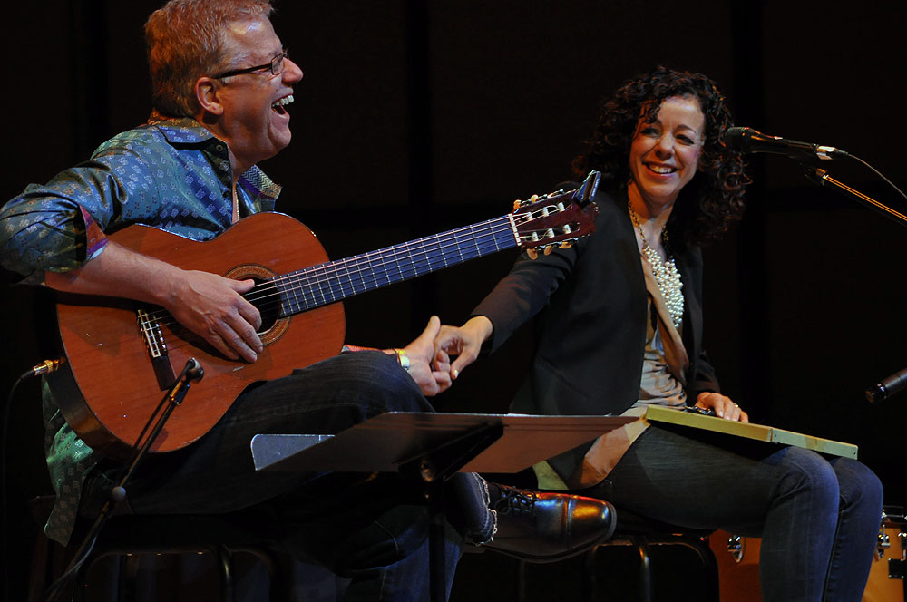
<instances>
[{"instance_id":1,"label":"woman's long dark curly hair","mask_svg":"<svg viewBox=\"0 0 907 602\"><path fill-rule=\"evenodd\" d=\"M629 150L640 115L646 123L658 118L661 102L672 96L693 96L706 117L705 139L693 180L680 191L668 223L671 240L679 244L713 242L743 214L744 187L749 179L744 161L723 141L733 125L724 95L702 73L657 67L624 83L605 103L592 132L590 150L573 160L573 170L584 177L599 170L603 186L612 190L630 180Z\"/></svg>"}]
</instances>

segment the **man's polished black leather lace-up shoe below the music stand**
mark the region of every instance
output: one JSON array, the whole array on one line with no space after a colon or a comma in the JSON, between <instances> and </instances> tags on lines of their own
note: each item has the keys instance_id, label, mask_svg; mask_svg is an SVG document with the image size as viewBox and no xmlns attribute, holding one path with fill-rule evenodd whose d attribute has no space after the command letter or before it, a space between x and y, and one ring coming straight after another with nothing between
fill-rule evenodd
<instances>
[{"instance_id":1,"label":"man's polished black leather lace-up shoe below the music stand","mask_svg":"<svg viewBox=\"0 0 907 602\"><path fill-rule=\"evenodd\" d=\"M488 490L498 524L484 548L532 562L554 562L580 554L614 533L617 521L607 501L497 483L488 483Z\"/></svg>"}]
</instances>

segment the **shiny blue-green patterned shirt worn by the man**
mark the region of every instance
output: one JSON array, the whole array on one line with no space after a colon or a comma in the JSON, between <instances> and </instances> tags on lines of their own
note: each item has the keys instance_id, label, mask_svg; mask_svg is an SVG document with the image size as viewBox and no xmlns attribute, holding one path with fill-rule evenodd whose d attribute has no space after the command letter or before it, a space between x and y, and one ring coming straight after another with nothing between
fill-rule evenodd
<instances>
[{"instance_id":1,"label":"shiny blue-green patterned shirt worn by the man","mask_svg":"<svg viewBox=\"0 0 907 602\"><path fill-rule=\"evenodd\" d=\"M239 176L239 215L274 209L280 187L253 166ZM227 143L190 118L148 123L104 142L92 159L32 184L0 210L0 261L40 284L97 256L104 232L144 224L194 240L229 228L232 173ZM99 458L63 420L54 391L43 388L45 452L56 492L48 537L68 542L83 481Z\"/></svg>"}]
</instances>

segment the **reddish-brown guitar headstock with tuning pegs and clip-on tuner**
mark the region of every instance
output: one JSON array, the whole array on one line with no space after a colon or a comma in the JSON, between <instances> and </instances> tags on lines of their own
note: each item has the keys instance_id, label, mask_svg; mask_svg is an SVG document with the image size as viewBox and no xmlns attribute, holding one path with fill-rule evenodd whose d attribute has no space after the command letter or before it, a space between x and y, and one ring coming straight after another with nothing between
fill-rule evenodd
<instances>
[{"instance_id":1,"label":"reddish-brown guitar headstock with tuning pegs and clip-on tuner","mask_svg":"<svg viewBox=\"0 0 907 602\"><path fill-rule=\"evenodd\" d=\"M580 237L594 232L599 208L591 200L600 179L599 171L590 171L579 189L557 190L532 202L514 203L511 215L517 245L534 259L541 249L547 255L555 246L569 248Z\"/></svg>"}]
</instances>

